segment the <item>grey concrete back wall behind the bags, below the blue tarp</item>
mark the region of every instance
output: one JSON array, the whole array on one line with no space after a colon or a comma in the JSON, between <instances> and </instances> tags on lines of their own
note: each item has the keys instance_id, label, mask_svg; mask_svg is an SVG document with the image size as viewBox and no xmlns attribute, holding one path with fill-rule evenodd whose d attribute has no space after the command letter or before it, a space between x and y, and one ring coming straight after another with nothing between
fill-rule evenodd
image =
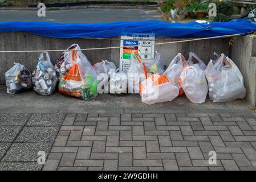
<instances>
[{"instance_id":1,"label":"grey concrete back wall behind the bags, below the blue tarp","mask_svg":"<svg viewBox=\"0 0 256 182\"><path fill-rule=\"evenodd\" d=\"M117 40L98 40L98 39L54 39L43 36L32 35L26 32L7 32L0 33L0 50L49 50L66 49L72 43L79 44L81 48L97 47L115 47L120 46L120 38ZM180 39L179 39L180 40ZM171 38L156 38L156 43L170 42ZM226 53L229 55L229 39L202 40L189 43L165 44L155 47L155 50L161 53L166 65L178 52L182 53L188 59L189 51L196 52L205 63L213 58L213 52ZM107 59L113 61L119 67L120 49L105 49L100 51L83 51L91 63ZM50 52L51 61L55 64L62 52ZM0 53L0 84L5 84L5 72L17 61L26 65L32 71L37 62L39 52L37 53Z\"/></svg>"}]
</instances>

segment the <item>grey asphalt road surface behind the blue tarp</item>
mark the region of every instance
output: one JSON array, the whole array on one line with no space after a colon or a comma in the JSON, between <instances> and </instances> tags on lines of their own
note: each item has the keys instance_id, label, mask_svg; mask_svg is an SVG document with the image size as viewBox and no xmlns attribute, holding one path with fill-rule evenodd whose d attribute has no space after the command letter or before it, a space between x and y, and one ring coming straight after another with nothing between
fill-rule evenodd
<instances>
[{"instance_id":1,"label":"grey asphalt road surface behind the blue tarp","mask_svg":"<svg viewBox=\"0 0 256 182\"><path fill-rule=\"evenodd\" d=\"M76 9L47 11L38 17L37 11L0 11L0 22L51 21L60 23L100 23L160 19L157 10L138 9Z\"/></svg>"}]
</instances>

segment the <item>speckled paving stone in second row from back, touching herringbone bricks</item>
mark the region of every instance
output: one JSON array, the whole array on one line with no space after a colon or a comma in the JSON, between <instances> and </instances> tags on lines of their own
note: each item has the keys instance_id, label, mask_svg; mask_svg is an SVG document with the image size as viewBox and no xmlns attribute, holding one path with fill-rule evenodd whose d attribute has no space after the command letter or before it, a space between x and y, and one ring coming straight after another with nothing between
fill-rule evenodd
<instances>
[{"instance_id":1,"label":"speckled paving stone in second row from back, touching herringbone bricks","mask_svg":"<svg viewBox=\"0 0 256 182\"><path fill-rule=\"evenodd\" d=\"M15 142L54 142L58 126L25 126Z\"/></svg>"}]
</instances>

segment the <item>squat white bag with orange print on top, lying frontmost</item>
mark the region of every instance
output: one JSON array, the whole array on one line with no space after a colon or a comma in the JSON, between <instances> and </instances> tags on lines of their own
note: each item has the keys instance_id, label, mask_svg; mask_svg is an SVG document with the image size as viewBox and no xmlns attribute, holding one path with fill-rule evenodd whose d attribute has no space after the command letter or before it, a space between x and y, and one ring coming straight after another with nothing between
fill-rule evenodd
<instances>
[{"instance_id":1,"label":"squat white bag with orange print on top, lying frontmost","mask_svg":"<svg viewBox=\"0 0 256 182\"><path fill-rule=\"evenodd\" d=\"M172 101L178 93L178 87L171 84L165 75L151 75L140 84L141 101L149 105Z\"/></svg>"}]
</instances>

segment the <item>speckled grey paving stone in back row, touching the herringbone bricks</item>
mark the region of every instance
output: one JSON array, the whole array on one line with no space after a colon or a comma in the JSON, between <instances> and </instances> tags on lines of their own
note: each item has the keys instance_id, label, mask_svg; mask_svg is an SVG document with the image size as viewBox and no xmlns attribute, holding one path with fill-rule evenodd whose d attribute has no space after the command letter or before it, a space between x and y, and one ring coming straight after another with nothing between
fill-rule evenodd
<instances>
[{"instance_id":1,"label":"speckled grey paving stone in back row, touching the herringbone bricks","mask_svg":"<svg viewBox=\"0 0 256 182\"><path fill-rule=\"evenodd\" d=\"M27 126L60 126L62 125L65 114L48 113L48 114L32 114Z\"/></svg>"}]
</instances>

